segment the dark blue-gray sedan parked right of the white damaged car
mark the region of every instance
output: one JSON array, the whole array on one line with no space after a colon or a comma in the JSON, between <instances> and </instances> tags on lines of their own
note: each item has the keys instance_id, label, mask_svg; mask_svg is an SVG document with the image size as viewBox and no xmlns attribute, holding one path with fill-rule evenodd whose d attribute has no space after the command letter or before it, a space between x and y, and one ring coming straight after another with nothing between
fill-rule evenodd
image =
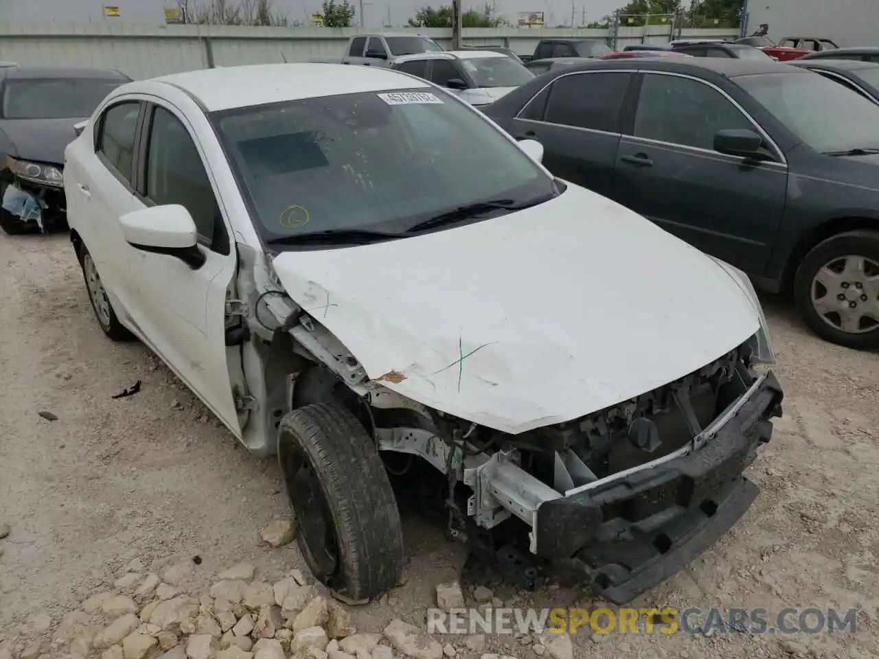
<instances>
[{"instance_id":1,"label":"dark blue-gray sedan parked right of the white damaged car","mask_svg":"<svg viewBox=\"0 0 879 659\"><path fill-rule=\"evenodd\" d=\"M817 335L879 347L879 106L868 99L780 62L621 59L550 71L484 112L541 141L556 176L792 292ZM649 263L631 266L650 277Z\"/></svg>"}]
</instances>

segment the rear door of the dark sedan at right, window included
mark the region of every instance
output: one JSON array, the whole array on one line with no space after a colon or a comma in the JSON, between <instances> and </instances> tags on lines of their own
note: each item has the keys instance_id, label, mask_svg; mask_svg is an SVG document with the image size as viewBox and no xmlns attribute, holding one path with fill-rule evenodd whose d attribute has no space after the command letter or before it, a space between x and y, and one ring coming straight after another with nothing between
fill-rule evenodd
<instances>
[{"instance_id":1,"label":"rear door of the dark sedan at right, window included","mask_svg":"<svg viewBox=\"0 0 879 659\"><path fill-rule=\"evenodd\" d=\"M543 145L543 164L557 177L614 197L621 108L633 74L586 71L557 77L512 119L516 139Z\"/></svg>"}]
</instances>

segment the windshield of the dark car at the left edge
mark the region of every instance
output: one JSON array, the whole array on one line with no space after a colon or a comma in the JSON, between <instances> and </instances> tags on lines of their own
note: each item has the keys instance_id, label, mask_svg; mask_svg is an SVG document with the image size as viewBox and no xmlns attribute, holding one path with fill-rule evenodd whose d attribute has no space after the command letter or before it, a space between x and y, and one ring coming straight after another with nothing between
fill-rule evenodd
<instances>
[{"instance_id":1,"label":"windshield of the dark car at the left edge","mask_svg":"<svg viewBox=\"0 0 879 659\"><path fill-rule=\"evenodd\" d=\"M31 78L4 85L4 119L79 119L91 117L107 94L123 80Z\"/></svg>"}]
</instances>

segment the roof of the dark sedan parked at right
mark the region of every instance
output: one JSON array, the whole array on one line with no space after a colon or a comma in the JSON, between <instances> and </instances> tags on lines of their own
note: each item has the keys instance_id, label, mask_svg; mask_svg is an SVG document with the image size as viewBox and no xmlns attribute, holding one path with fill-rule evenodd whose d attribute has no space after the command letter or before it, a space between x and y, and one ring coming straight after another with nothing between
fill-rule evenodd
<instances>
[{"instance_id":1,"label":"roof of the dark sedan parked at right","mask_svg":"<svg viewBox=\"0 0 879 659\"><path fill-rule=\"evenodd\" d=\"M803 69L794 69L785 62L766 60L747 60L727 57L653 57L653 58L617 58L610 60L585 59L582 64L565 73L588 71L592 69L626 69L645 71L672 71L676 73L714 73L717 76L734 78L738 76L756 76L765 73L810 73Z\"/></svg>"}]
</instances>

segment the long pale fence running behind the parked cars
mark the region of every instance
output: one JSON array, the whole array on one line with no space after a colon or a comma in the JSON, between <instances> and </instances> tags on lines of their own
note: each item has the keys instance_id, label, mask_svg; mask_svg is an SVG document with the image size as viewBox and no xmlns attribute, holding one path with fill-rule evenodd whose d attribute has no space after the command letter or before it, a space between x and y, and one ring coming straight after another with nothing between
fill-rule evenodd
<instances>
[{"instance_id":1,"label":"long pale fence running behind the parked cars","mask_svg":"<svg viewBox=\"0 0 879 659\"><path fill-rule=\"evenodd\" d=\"M877 0L879 1L879 0ZM119 69L142 79L212 66L268 62L309 62L342 57L347 40L358 28L229 27L225 25L112 25L51 22L22 25L0 23L0 60L32 66L76 65ZM449 47L452 31L394 30L425 34ZM532 54L541 39L584 37L607 39L607 30L468 29L467 45L504 45ZM732 38L730 30L684 30L683 38ZM666 43L665 25L621 28L617 47L630 43Z\"/></svg>"}]
</instances>

